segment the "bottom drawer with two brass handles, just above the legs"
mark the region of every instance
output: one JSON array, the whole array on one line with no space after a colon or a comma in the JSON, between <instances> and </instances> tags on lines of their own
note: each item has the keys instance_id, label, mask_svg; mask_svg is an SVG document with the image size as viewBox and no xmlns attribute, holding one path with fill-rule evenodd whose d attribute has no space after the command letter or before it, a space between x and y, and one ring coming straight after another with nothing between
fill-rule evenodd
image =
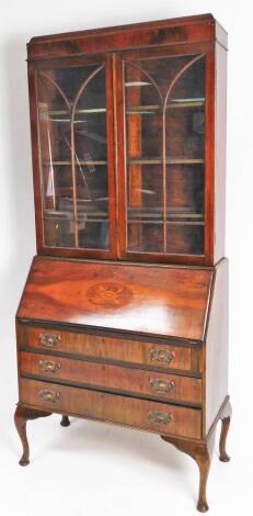
<instances>
[{"instance_id":1,"label":"bottom drawer with two brass handles, just above the legs","mask_svg":"<svg viewBox=\"0 0 253 516\"><path fill-rule=\"evenodd\" d=\"M20 402L162 435L199 439L202 411L87 389L21 379Z\"/></svg>"}]
</instances>

